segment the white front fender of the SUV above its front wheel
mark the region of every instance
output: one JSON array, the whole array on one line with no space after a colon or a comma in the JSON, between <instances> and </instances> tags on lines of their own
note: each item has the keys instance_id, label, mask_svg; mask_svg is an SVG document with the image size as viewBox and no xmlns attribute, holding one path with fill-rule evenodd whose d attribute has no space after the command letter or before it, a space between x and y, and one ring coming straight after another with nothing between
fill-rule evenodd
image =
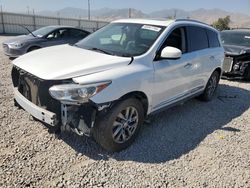
<instances>
[{"instance_id":1,"label":"white front fender of the SUV above its front wheel","mask_svg":"<svg viewBox=\"0 0 250 188\"><path fill-rule=\"evenodd\" d=\"M91 97L91 101L96 104L118 100L131 92L143 92L148 98L149 112L152 101L153 78L154 72L151 67L132 63L131 65L73 78L73 81L79 84L112 81L107 88Z\"/></svg>"}]
</instances>

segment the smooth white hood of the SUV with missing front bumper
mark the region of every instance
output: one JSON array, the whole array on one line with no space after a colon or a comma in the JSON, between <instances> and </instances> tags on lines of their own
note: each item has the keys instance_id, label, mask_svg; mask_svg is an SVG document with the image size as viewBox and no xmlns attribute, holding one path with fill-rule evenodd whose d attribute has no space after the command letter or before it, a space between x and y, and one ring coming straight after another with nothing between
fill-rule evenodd
<instances>
[{"instance_id":1,"label":"smooth white hood of the SUV with missing front bumper","mask_svg":"<svg viewBox=\"0 0 250 188\"><path fill-rule=\"evenodd\" d=\"M126 66L130 57L118 57L59 45L27 53L13 64L44 80L61 80Z\"/></svg>"}]
</instances>

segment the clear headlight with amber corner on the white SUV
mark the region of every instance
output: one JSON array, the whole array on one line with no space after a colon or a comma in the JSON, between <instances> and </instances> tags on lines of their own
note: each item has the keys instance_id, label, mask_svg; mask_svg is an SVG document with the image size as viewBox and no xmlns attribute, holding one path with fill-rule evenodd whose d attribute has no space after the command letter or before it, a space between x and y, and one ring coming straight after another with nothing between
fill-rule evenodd
<instances>
[{"instance_id":1,"label":"clear headlight with amber corner on the white SUV","mask_svg":"<svg viewBox=\"0 0 250 188\"><path fill-rule=\"evenodd\" d=\"M111 81L90 85L62 84L49 88L50 95L59 101L70 103L85 103L95 94L105 89Z\"/></svg>"}]
</instances>

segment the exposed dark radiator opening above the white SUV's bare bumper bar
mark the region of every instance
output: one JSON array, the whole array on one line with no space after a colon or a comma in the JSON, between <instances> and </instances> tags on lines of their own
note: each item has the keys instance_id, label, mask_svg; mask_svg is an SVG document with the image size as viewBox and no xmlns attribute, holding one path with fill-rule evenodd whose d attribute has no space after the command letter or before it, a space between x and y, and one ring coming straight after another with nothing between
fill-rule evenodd
<instances>
[{"instance_id":1,"label":"exposed dark radiator opening above the white SUV's bare bumper bar","mask_svg":"<svg viewBox=\"0 0 250 188\"><path fill-rule=\"evenodd\" d=\"M61 104L50 96L49 88L53 85L68 82L68 80L42 80L14 66L12 69L12 81L14 87L18 87L18 91L29 101L60 115Z\"/></svg>"}]
</instances>

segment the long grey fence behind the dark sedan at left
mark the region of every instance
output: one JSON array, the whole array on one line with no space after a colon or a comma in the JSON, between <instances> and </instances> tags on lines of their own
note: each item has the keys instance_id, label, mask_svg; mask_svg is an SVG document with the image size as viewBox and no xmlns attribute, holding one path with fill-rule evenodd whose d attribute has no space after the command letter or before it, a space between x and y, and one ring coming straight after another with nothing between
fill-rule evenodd
<instances>
[{"instance_id":1,"label":"long grey fence behind the dark sedan at left","mask_svg":"<svg viewBox=\"0 0 250 188\"><path fill-rule=\"evenodd\" d=\"M93 32L106 24L108 24L108 22L84 20L80 18L60 18L0 12L0 33L2 34L27 33L27 31L20 25L27 27L31 31L48 25L67 25Z\"/></svg>"}]
</instances>

